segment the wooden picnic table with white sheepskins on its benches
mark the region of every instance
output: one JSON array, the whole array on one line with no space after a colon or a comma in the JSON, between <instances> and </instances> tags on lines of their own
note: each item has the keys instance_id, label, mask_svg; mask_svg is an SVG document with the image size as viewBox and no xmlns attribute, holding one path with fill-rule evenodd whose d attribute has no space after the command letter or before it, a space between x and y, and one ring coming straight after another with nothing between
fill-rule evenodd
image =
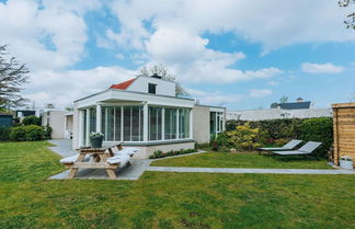
<instances>
[{"instance_id":1,"label":"wooden picnic table with white sheepskins on its benches","mask_svg":"<svg viewBox=\"0 0 355 229\"><path fill-rule=\"evenodd\" d=\"M83 147L79 153L62 158L60 163L70 169L69 179L77 175L79 169L105 170L110 179L117 179L115 170L130 165L130 159L139 149L123 148L122 144L108 148Z\"/></svg>"}]
</instances>

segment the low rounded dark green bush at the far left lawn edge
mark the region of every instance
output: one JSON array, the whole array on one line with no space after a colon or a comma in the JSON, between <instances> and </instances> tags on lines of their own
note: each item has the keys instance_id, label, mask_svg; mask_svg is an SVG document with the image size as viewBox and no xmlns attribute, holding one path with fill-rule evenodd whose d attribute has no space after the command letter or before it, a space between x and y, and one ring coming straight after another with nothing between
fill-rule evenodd
<instances>
[{"instance_id":1,"label":"low rounded dark green bush at the far left lawn edge","mask_svg":"<svg viewBox=\"0 0 355 229\"><path fill-rule=\"evenodd\" d=\"M43 137L44 129L36 125L13 127L10 131L10 139L13 141L42 140Z\"/></svg>"}]
</instances>

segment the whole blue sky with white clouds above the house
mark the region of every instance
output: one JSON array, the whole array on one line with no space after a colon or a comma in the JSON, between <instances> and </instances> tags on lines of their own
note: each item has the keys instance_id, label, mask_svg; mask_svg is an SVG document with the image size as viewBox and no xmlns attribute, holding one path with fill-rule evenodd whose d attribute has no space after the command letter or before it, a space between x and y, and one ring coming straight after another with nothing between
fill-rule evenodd
<instances>
[{"instance_id":1,"label":"whole blue sky with white clouds above the house","mask_svg":"<svg viewBox=\"0 0 355 229\"><path fill-rule=\"evenodd\" d=\"M164 65L203 104L313 107L355 100L355 5L336 0L0 0L0 45L31 71L36 106Z\"/></svg>"}]
</instances>

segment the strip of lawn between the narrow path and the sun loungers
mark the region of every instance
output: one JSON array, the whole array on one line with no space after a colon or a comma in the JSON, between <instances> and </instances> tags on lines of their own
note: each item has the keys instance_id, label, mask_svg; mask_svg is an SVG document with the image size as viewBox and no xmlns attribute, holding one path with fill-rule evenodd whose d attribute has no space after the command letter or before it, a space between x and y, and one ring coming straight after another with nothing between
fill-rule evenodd
<instances>
[{"instance_id":1,"label":"strip of lawn between the narrow path and the sun loungers","mask_svg":"<svg viewBox=\"0 0 355 229\"><path fill-rule=\"evenodd\" d=\"M333 169L324 159L267 157L256 152L206 152L153 161L153 167L254 168L254 169Z\"/></svg>"}]
</instances>

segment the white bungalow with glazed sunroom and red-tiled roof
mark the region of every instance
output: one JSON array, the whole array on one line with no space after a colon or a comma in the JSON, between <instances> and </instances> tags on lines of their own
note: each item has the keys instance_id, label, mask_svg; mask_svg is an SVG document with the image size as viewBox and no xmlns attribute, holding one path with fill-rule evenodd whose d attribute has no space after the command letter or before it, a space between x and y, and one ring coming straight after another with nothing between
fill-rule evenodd
<instances>
[{"instance_id":1,"label":"white bungalow with glazed sunroom and red-tiled roof","mask_svg":"<svg viewBox=\"0 0 355 229\"><path fill-rule=\"evenodd\" d=\"M89 134L104 134L104 145L124 142L140 149L136 158L156 150L194 148L225 129L226 108L197 105L176 98L175 83L159 76L137 77L73 103L73 148L89 146Z\"/></svg>"}]
</instances>

